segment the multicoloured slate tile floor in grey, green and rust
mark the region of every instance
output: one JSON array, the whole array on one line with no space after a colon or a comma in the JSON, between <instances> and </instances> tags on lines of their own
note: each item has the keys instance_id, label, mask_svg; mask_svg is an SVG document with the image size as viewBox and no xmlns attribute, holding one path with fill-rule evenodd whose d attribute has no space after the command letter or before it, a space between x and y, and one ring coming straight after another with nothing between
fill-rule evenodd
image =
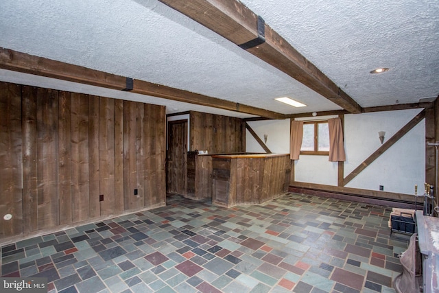
<instances>
[{"instance_id":1,"label":"multicoloured slate tile floor in grey, green and rust","mask_svg":"<svg viewBox=\"0 0 439 293\"><path fill-rule=\"evenodd\" d=\"M224 209L169 195L167 207L1 247L3 277L49 292L394 292L390 209L285 194Z\"/></svg>"}]
</instances>

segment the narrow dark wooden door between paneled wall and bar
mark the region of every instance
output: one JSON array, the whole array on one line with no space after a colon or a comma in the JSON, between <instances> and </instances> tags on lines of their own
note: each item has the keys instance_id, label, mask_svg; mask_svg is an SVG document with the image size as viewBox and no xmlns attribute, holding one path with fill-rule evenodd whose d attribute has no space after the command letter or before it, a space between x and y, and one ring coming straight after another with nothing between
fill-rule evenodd
<instances>
[{"instance_id":1,"label":"narrow dark wooden door between paneled wall and bar","mask_svg":"<svg viewBox=\"0 0 439 293\"><path fill-rule=\"evenodd\" d=\"M166 191L187 195L187 120L169 121Z\"/></svg>"}]
</instances>

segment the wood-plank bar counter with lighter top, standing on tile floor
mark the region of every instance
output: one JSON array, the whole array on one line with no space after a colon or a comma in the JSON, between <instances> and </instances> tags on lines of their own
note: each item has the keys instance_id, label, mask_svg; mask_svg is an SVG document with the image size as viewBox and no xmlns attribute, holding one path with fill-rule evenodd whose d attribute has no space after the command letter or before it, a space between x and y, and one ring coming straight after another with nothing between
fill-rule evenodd
<instances>
[{"instance_id":1,"label":"wood-plank bar counter with lighter top, standing on tile floor","mask_svg":"<svg viewBox=\"0 0 439 293\"><path fill-rule=\"evenodd\" d=\"M223 207L260 204L289 186L289 154L212 156L212 203Z\"/></svg>"}]
</instances>

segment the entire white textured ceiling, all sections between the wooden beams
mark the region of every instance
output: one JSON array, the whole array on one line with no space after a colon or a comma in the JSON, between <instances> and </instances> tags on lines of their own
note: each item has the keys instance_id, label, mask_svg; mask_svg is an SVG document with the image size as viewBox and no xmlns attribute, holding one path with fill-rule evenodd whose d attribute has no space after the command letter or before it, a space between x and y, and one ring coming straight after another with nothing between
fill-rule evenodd
<instances>
[{"instance_id":1,"label":"entire white textured ceiling, all sections between the wooden beams","mask_svg":"<svg viewBox=\"0 0 439 293\"><path fill-rule=\"evenodd\" d=\"M439 2L241 1L361 107L439 94ZM0 47L291 114L338 110L285 73L155 0L0 1ZM377 67L390 71L371 75ZM0 80L250 115L0 71ZM307 104L274 101L289 96ZM396 102L398 100L398 102Z\"/></svg>"}]
</instances>

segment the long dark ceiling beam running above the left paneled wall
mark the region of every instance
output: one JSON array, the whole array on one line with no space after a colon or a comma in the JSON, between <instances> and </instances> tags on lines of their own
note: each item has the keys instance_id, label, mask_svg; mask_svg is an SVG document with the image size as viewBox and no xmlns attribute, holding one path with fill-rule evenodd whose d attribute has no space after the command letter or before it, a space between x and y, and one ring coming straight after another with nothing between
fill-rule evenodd
<instances>
[{"instance_id":1,"label":"long dark ceiling beam running above the left paneled wall","mask_svg":"<svg viewBox=\"0 0 439 293\"><path fill-rule=\"evenodd\" d=\"M89 84L92 86L104 87L106 89L123 90L127 87L127 78L121 75L97 71L86 67L71 65L65 62L51 60L43 57L32 56L29 54L13 51L0 47L0 68L22 73ZM254 106L243 105L230 102L225 99L209 97L199 93L192 93L181 89L174 89L161 84L154 84L143 80L134 80L131 93L161 97L178 102L198 104L221 108L250 115L266 117L270 119L285 119L285 115L270 110L257 108Z\"/></svg>"}]
</instances>

